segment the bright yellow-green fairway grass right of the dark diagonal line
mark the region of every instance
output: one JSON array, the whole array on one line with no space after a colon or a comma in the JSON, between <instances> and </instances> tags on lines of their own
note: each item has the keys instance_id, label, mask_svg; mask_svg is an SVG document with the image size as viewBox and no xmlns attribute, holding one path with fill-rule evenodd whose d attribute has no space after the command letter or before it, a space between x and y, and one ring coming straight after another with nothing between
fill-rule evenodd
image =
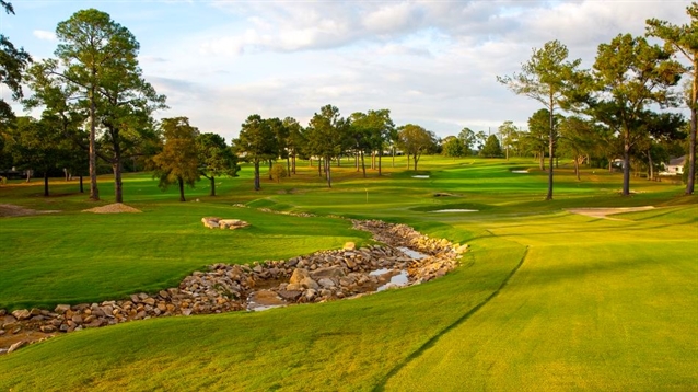
<instances>
[{"instance_id":1,"label":"bright yellow-green fairway grass right of the dark diagonal line","mask_svg":"<svg viewBox=\"0 0 698 392\"><path fill-rule=\"evenodd\" d=\"M605 244L532 246L497 298L386 389L698 387L698 261L686 256L696 240L682 237L656 246L609 231Z\"/></svg>"}]
</instances>

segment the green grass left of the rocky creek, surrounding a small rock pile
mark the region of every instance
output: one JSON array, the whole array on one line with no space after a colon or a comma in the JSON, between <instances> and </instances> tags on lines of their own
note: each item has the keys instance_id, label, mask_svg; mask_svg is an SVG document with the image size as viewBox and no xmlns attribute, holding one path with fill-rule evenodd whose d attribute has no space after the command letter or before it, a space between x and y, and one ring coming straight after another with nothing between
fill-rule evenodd
<instances>
[{"instance_id":1,"label":"green grass left of the rocky creek, surrounding a small rock pile","mask_svg":"<svg viewBox=\"0 0 698 392\"><path fill-rule=\"evenodd\" d=\"M201 217L243 219L243 230L209 230ZM53 308L176 287L214 263L242 264L337 249L369 234L338 219L263 214L188 203L143 206L142 214L2 219L0 309Z\"/></svg>"}]
</instances>

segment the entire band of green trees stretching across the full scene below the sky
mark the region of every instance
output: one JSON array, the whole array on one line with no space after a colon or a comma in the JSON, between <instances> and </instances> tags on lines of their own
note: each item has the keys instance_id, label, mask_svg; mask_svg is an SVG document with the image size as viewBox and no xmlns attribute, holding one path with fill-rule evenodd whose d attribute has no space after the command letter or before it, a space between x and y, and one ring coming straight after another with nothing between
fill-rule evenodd
<instances>
[{"instance_id":1,"label":"entire band of green trees stretching across the full scene below the sky","mask_svg":"<svg viewBox=\"0 0 698 392\"><path fill-rule=\"evenodd\" d=\"M11 4L3 1L1 5L13 13ZM582 162L609 164L621 159L627 195L631 163L645 165L652 177L658 164L688 140L686 194L693 194L698 7L694 3L687 12L691 22L686 25L647 22L648 35L665 45L618 35L598 46L591 69L581 69L579 59L568 60L567 47L557 41L534 49L521 72L498 77L514 93L543 105L525 131L507 122L499 138L464 128L456 137L439 140L419 125L395 126L385 108L344 117L336 106L326 105L305 127L292 117L251 115L239 138L226 143L216 134L200 132L186 117L156 122L153 113L166 108L166 97L144 80L135 36L108 14L83 10L58 24L55 58L33 62L0 35L2 83L27 109L42 109L40 118L15 118L0 101L0 169L20 166L43 173L45 194L48 175L57 168L80 176L81 191L86 173L90 198L98 200L96 177L106 166L114 174L117 203L123 201L125 169L151 170L161 187L176 184L184 200L185 185L193 186L200 177L210 181L216 195L216 178L236 175L240 161L253 164L255 189L260 188L263 166L268 166L270 178L278 180L295 174L296 159L315 162L318 176L331 186L331 163L339 165L340 157L353 157L364 176L369 158L370 168L381 175L386 154L394 164L399 151L408 157L408 168L417 170L422 153L467 155L477 142L484 157L533 154L542 169L547 158L550 199L554 160L559 155L572 158L577 168ZM693 66L683 66L676 56L685 56ZM677 85L685 74L693 77L693 83L682 91ZM22 83L31 88L31 96L22 95ZM691 112L688 128L683 116L658 112L682 105Z\"/></svg>"}]
</instances>

